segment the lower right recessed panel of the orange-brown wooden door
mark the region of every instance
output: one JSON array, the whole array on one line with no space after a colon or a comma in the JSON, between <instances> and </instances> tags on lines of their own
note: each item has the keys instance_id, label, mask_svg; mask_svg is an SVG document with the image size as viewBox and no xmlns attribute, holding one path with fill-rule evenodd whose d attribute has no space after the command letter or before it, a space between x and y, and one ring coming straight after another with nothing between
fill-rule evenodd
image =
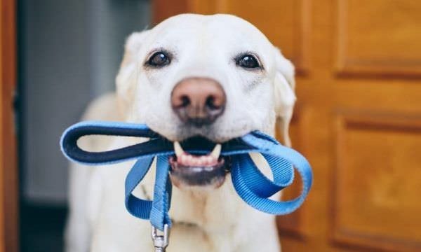
<instances>
[{"instance_id":1,"label":"lower right recessed panel of the orange-brown wooden door","mask_svg":"<svg viewBox=\"0 0 421 252\"><path fill-rule=\"evenodd\" d=\"M421 251L421 117L338 116L333 240Z\"/></svg>"}]
</instances>

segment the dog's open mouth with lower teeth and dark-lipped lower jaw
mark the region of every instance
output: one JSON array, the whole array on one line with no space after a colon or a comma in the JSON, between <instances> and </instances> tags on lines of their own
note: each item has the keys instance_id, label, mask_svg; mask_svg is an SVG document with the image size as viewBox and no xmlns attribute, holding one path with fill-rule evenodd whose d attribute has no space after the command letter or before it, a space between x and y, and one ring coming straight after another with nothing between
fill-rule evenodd
<instances>
[{"instance_id":1,"label":"dog's open mouth with lower teeth and dark-lipped lower jaw","mask_svg":"<svg viewBox=\"0 0 421 252\"><path fill-rule=\"evenodd\" d=\"M182 148L194 145L213 145L213 150L200 155L191 154ZM221 144L211 143L203 138L192 138L173 143L175 155L170 158L171 181L178 188L219 188L229 171L229 160L222 155Z\"/></svg>"}]
</instances>

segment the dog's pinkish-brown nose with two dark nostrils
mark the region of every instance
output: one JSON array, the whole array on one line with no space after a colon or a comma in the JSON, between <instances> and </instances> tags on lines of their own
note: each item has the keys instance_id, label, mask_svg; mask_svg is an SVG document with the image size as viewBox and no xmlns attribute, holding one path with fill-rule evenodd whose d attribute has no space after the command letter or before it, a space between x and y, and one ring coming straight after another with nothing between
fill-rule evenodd
<instances>
[{"instance_id":1,"label":"dog's pinkish-brown nose with two dark nostrils","mask_svg":"<svg viewBox=\"0 0 421 252\"><path fill-rule=\"evenodd\" d=\"M222 86L210 78L186 78L173 89L171 106L180 120L196 127L213 123L224 113Z\"/></svg>"}]
</instances>

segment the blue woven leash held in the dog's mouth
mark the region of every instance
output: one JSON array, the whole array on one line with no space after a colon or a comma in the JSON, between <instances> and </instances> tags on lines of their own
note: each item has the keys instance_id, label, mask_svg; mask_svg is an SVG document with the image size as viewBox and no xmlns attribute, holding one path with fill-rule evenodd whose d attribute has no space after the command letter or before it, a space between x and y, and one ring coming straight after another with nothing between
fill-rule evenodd
<instances>
[{"instance_id":1,"label":"blue woven leash held in the dog's mouth","mask_svg":"<svg viewBox=\"0 0 421 252\"><path fill-rule=\"evenodd\" d=\"M147 137L149 141L112 151L88 152L77 146L77 140L86 135L108 135L122 137ZM87 121L76 123L62 134L60 146L64 155L83 165L105 165L137 159L126 176L126 209L135 217L149 220L154 228L161 231L171 226L168 211L171 205L171 181L168 179L170 165L168 159L174 155L173 144L163 139L146 125L133 123L113 123ZM185 151L192 154L209 153L213 146L208 143L197 146L183 144ZM264 176L248 153L261 153L267 160L274 181ZM312 169L309 162L297 151L279 144L276 139L262 132L250 132L238 139L222 144L221 155L232 159L232 183L239 197L255 209L268 214L289 214L304 202L312 187ZM142 200L132 192L145 177L156 160L156 178L153 200ZM269 197L289 186L297 169L302 177L302 193L294 200L277 202Z\"/></svg>"}]
</instances>

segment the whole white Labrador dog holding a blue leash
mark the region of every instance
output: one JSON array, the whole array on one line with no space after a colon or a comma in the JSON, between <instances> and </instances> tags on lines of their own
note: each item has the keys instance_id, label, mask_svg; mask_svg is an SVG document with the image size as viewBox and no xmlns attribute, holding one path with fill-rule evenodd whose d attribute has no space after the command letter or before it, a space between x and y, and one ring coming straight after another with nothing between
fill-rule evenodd
<instances>
[{"instance_id":1,"label":"whole white Labrador dog holding a blue leash","mask_svg":"<svg viewBox=\"0 0 421 252\"><path fill-rule=\"evenodd\" d=\"M280 251L274 216L236 195L229 160L219 154L221 143L253 130L274 135L276 122L283 144L290 145L294 74L293 64L259 29L234 15L176 15L128 37L116 92L93 102L83 119L146 123L173 142L168 251ZM212 141L214 150L185 153L182 142L193 137ZM144 140L91 137L81 146L105 151ZM252 158L270 178L262 156ZM67 252L152 251L149 221L124 206L132 165L71 165ZM150 199L153 186L149 172L134 194Z\"/></svg>"}]
</instances>

